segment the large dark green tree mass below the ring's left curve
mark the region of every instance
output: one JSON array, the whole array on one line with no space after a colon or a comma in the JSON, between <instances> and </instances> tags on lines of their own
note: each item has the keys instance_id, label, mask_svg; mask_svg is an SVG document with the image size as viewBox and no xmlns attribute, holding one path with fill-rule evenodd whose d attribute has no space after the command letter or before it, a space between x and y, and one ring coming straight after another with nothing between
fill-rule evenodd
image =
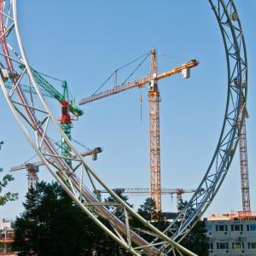
<instances>
[{"instance_id":1,"label":"large dark green tree mass below the ring's left curve","mask_svg":"<svg viewBox=\"0 0 256 256\"><path fill-rule=\"evenodd\" d=\"M38 183L23 205L25 211L15 220L14 248L20 256L125 255L57 183Z\"/></svg>"}]
</instances>

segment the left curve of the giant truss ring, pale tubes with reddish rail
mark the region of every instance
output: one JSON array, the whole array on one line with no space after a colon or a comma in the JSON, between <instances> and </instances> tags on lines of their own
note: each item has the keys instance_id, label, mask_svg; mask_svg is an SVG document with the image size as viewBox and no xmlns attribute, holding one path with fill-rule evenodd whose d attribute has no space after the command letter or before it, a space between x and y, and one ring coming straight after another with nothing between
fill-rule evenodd
<instances>
[{"instance_id":1,"label":"left curve of the giant truss ring, pale tubes with reddish rail","mask_svg":"<svg viewBox=\"0 0 256 256\"><path fill-rule=\"evenodd\" d=\"M196 255L157 230L122 201L88 166L61 130L44 100L26 58L20 36L16 0L0 0L0 43L0 86L9 108L44 166L73 201L108 236L133 255L166 255L161 250L161 245L172 247L176 255ZM20 84L29 84L31 91L28 96L24 95ZM62 156L63 148L59 143L55 143L60 137L67 142L68 156ZM68 165L71 160L72 165ZM93 192L100 189L107 190L112 201L102 201L100 195ZM137 219L145 232L152 237L158 237L159 241L152 243L150 241L153 238L150 241L143 239L138 233L140 231L134 226L131 227L131 219Z\"/></svg>"}]
</instances>

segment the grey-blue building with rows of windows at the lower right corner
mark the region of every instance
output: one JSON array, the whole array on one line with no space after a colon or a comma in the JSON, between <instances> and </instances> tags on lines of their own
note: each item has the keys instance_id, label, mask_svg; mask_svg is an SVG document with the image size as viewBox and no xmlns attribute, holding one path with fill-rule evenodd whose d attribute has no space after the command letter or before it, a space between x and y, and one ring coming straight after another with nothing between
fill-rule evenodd
<instances>
[{"instance_id":1,"label":"grey-blue building with rows of windows at the lower right corner","mask_svg":"<svg viewBox=\"0 0 256 256\"><path fill-rule=\"evenodd\" d=\"M210 256L256 255L256 212L236 212L207 219Z\"/></svg>"}]
</instances>

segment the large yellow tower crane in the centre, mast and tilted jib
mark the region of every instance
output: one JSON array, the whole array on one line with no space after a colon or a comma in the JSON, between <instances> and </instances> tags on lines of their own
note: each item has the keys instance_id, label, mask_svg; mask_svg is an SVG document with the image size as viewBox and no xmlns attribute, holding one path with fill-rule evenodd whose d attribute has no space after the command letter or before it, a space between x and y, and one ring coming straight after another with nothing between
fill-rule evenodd
<instances>
[{"instance_id":1,"label":"large yellow tower crane in the centre, mast and tilted jib","mask_svg":"<svg viewBox=\"0 0 256 256\"><path fill-rule=\"evenodd\" d=\"M150 196L155 202L157 216L151 216L152 219L160 218L161 212L161 182L160 182L160 92L158 90L158 81L166 79L174 74L182 73L183 78L189 79L190 68L199 64L196 60L191 60L179 67L158 74L156 49L151 50L151 71L147 76L129 81L113 89L105 90L100 93L85 97L79 105L95 102L102 98L118 94L119 92L130 90L132 88L143 88L149 84L148 101L149 101L149 134L150 134Z\"/></svg>"}]
</instances>

